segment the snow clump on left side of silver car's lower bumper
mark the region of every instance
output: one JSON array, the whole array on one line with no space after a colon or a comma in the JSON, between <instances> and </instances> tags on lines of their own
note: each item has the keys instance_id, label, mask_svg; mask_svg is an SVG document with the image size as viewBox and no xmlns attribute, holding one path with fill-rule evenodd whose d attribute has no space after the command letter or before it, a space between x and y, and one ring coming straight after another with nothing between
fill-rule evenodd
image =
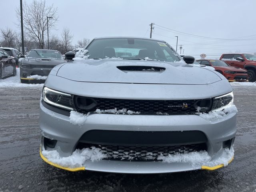
<instances>
[{"instance_id":1,"label":"snow clump on left side of silver car's lower bumper","mask_svg":"<svg viewBox=\"0 0 256 192\"><path fill-rule=\"evenodd\" d=\"M68 157L60 157L60 154L57 152L57 150L43 150L42 154L50 162L68 168L82 167L87 160L94 162L106 158L106 154L100 152L100 149L96 147L83 148L82 150L76 149L72 155Z\"/></svg>"}]
</instances>

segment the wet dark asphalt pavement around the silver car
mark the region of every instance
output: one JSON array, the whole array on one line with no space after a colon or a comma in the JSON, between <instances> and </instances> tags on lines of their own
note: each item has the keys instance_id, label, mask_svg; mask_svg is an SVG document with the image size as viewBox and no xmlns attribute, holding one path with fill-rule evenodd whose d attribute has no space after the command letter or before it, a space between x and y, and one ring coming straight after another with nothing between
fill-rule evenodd
<instances>
[{"instance_id":1,"label":"wet dark asphalt pavement around the silver car","mask_svg":"<svg viewBox=\"0 0 256 192\"><path fill-rule=\"evenodd\" d=\"M256 86L235 86L234 160L215 171L172 174L68 172L39 155L42 87L0 88L0 192L256 192Z\"/></svg>"}]
</instances>

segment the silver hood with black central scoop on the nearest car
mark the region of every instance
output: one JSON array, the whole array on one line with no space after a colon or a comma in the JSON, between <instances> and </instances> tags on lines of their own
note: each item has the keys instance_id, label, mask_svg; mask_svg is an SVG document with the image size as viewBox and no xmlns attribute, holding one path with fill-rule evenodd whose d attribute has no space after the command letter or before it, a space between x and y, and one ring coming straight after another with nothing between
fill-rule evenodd
<instances>
[{"instance_id":1,"label":"silver hood with black central scoop on the nearest car","mask_svg":"<svg viewBox=\"0 0 256 192\"><path fill-rule=\"evenodd\" d=\"M162 69L155 71L157 67ZM138 71L130 71L129 68ZM184 62L152 60L74 61L62 65L56 75L73 81L100 83L211 84L221 80L211 70L190 66Z\"/></svg>"}]
</instances>

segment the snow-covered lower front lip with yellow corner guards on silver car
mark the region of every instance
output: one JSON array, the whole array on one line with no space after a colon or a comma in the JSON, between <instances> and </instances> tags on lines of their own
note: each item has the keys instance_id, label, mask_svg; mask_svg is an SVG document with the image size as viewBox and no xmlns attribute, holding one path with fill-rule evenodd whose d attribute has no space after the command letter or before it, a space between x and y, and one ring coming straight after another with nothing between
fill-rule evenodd
<instances>
[{"instance_id":1,"label":"snow-covered lower front lip with yellow corner guards on silver car","mask_svg":"<svg viewBox=\"0 0 256 192\"><path fill-rule=\"evenodd\" d=\"M95 150L95 149L94 149ZM69 157L60 157L55 151L41 151L41 158L48 164L64 170L76 172L83 170L112 172L112 173L135 173L152 174L182 172L189 170L216 170L227 166L234 158L233 147L220 152L218 158L210 160L207 152L190 152L188 154L175 154L166 157L162 162L122 162L101 160L105 156L99 151L94 153L92 149L75 151ZM92 159L90 159L92 158Z\"/></svg>"}]
</instances>

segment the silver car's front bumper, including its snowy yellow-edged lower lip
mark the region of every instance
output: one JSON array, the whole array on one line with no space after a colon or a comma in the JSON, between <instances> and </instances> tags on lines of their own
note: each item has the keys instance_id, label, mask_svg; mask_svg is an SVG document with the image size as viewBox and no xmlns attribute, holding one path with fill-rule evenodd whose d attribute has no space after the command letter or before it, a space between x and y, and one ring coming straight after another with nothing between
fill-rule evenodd
<instances>
[{"instance_id":1,"label":"silver car's front bumper, including its snowy yellow-edged lower lip","mask_svg":"<svg viewBox=\"0 0 256 192\"><path fill-rule=\"evenodd\" d=\"M72 117L72 116L71 116ZM79 116L78 116L79 117ZM146 116L89 114L80 116L74 123L69 116L58 114L40 103L40 128L46 138L58 140L53 149L41 145L41 157L53 166L70 171L93 170L117 173L165 173L188 170L214 170L226 166L234 156L234 150L222 148L222 142L236 134L236 112L222 118L205 119L198 115ZM79 118L78 118L79 120ZM162 161L104 160L104 156L90 150L74 150L80 137L89 130L130 131L186 131L199 130L208 138L208 150L158 157ZM50 150L50 151L48 151ZM95 155L97 158L95 158ZM74 157L77 158L74 158ZM92 157L94 156L94 157ZM79 158L78 158L79 157ZM162 158L162 159L161 159ZM74 160L79 160L78 162ZM191 161L192 160L192 161Z\"/></svg>"}]
</instances>

